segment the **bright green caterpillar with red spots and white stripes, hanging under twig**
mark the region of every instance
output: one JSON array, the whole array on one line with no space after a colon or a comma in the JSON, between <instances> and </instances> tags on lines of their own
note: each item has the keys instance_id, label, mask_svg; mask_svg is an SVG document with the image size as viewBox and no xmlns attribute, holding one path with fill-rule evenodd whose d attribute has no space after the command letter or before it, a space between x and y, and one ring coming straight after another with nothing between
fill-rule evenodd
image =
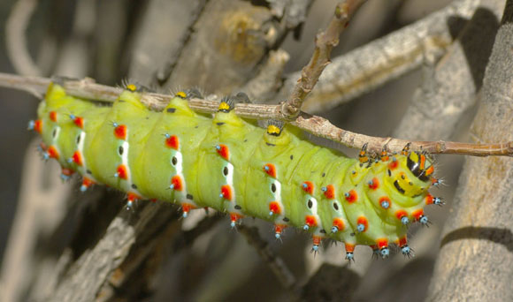
<instances>
[{"instance_id":1,"label":"bright green caterpillar with red spots and white stripes, hanging under twig","mask_svg":"<svg viewBox=\"0 0 513 302\"><path fill-rule=\"evenodd\" d=\"M80 191L103 184L137 200L180 205L184 217L196 208L226 212L236 228L246 216L274 224L276 238L294 226L321 240L343 242L346 259L356 245L387 258L390 245L411 256L411 223L430 223L426 205L441 205L428 190L433 159L410 151L371 156L364 147L348 158L302 138L292 125L269 121L265 128L234 114L226 97L218 112L190 109L195 91L175 94L161 112L140 102L141 89L126 85L112 106L82 100L50 84L28 128L42 136L45 160L62 166L61 177L82 177Z\"/></svg>"}]
</instances>

